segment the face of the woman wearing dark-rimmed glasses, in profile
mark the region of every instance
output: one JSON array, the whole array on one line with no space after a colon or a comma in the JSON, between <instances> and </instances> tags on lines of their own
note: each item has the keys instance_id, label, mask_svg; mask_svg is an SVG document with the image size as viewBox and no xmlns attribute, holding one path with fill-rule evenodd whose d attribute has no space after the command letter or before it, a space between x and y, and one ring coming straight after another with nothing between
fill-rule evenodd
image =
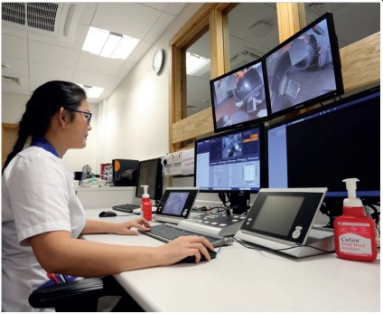
<instances>
[{"instance_id":1,"label":"face of the woman wearing dark-rimmed glasses, in profile","mask_svg":"<svg viewBox=\"0 0 383 314\"><path fill-rule=\"evenodd\" d=\"M81 111L89 111L89 104L86 99L82 100L79 107L76 108ZM88 115L86 113L72 111L74 119L68 124L68 131L70 137L71 148L83 148L87 146L88 132L92 129L88 124Z\"/></svg>"}]
</instances>

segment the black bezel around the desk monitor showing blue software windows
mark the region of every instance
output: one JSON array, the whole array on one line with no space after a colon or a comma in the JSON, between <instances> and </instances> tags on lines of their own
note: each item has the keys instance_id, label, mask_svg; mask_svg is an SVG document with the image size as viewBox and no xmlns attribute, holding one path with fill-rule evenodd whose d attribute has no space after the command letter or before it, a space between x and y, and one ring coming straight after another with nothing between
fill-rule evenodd
<instances>
[{"instance_id":1,"label":"black bezel around the desk monitor showing blue software windows","mask_svg":"<svg viewBox=\"0 0 383 314\"><path fill-rule=\"evenodd\" d=\"M259 164L259 169L260 169L259 180L260 180L260 182L259 183L260 184L259 184L259 187L257 188L257 190L256 189L252 189L252 190L249 190L249 189L224 189L224 188L206 190L201 186L197 186L197 163L198 163L197 162L197 145L198 145L198 143L201 141L204 141L204 140L210 140L212 138L226 137L228 135L240 133L240 132L252 129L252 128L258 128L259 129L259 140L260 140L260 143L259 143L259 149L260 149L260 154L259 154L259 157L260 157L260 160L259 160L259 163L260 163ZM257 194L262 187L266 187L265 186L265 184L266 184L266 180L265 180L265 175L266 175L265 148L266 148L266 146L265 146L265 124L264 123L258 123L256 125L250 125L250 126L247 126L246 128L233 128L227 132L221 132L221 133L214 134L214 135L211 135L211 136L205 137L205 138L197 138L194 142L194 177L193 177L194 186L197 186L200 189L200 193L215 193L215 194L229 193L232 195Z\"/></svg>"}]
</instances>

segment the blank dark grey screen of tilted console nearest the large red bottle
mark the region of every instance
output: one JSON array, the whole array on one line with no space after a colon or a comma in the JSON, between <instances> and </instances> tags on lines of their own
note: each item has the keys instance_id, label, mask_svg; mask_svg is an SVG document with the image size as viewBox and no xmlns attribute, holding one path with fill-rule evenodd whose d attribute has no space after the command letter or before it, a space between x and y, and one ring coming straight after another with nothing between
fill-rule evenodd
<instances>
[{"instance_id":1,"label":"blank dark grey screen of tilted console nearest the large red bottle","mask_svg":"<svg viewBox=\"0 0 383 314\"><path fill-rule=\"evenodd\" d=\"M303 203L301 195L267 195L252 229L287 236Z\"/></svg>"}]
</instances>

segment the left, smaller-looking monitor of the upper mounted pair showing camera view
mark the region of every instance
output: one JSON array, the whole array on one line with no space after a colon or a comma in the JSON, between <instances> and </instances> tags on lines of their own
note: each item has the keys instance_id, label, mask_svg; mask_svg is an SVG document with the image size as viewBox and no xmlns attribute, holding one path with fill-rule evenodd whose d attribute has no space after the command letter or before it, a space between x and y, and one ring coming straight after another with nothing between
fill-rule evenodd
<instances>
[{"instance_id":1,"label":"left, smaller-looking monitor of the upper mounted pair showing camera view","mask_svg":"<svg viewBox=\"0 0 383 314\"><path fill-rule=\"evenodd\" d=\"M262 59L210 81L214 131L241 128L266 120L265 75Z\"/></svg>"}]
</instances>

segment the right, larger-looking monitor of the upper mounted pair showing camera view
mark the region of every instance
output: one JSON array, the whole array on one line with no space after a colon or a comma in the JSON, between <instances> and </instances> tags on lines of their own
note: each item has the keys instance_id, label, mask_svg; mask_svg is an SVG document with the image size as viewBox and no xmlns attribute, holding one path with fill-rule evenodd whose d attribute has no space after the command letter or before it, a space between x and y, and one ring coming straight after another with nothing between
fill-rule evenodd
<instances>
[{"instance_id":1,"label":"right, larger-looking monitor of the upper mounted pair showing camera view","mask_svg":"<svg viewBox=\"0 0 383 314\"><path fill-rule=\"evenodd\" d=\"M272 118L343 94L341 57L331 13L308 24L264 58Z\"/></svg>"}]
</instances>

